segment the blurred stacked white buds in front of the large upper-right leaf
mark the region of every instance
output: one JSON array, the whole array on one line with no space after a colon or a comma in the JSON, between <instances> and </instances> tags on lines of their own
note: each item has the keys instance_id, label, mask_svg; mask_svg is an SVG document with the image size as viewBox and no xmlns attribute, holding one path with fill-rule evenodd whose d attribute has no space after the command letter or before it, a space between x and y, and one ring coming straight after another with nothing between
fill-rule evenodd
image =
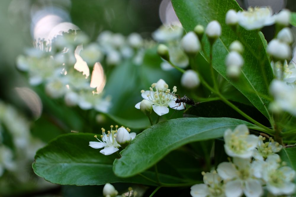
<instances>
[{"instance_id":1,"label":"blurred stacked white buds in front of the large upper-right leaf","mask_svg":"<svg viewBox=\"0 0 296 197\"><path fill-rule=\"evenodd\" d=\"M226 56L225 64L227 67L227 75L231 78L237 78L240 75L240 69L244 64L241 53L244 51L242 44L235 40L229 46L230 52Z\"/></svg>"}]
</instances>

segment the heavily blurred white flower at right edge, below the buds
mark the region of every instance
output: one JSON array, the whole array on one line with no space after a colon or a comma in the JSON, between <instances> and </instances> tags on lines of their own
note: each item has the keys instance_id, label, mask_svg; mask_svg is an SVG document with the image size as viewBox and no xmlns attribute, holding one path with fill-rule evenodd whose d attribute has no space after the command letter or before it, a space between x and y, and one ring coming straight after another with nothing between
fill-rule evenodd
<instances>
[{"instance_id":1,"label":"heavily blurred white flower at right edge, below the buds","mask_svg":"<svg viewBox=\"0 0 296 197\"><path fill-rule=\"evenodd\" d=\"M270 85L270 92L274 96L274 105L292 115L296 115L295 87L286 84L286 82L274 79Z\"/></svg>"}]
</instances>

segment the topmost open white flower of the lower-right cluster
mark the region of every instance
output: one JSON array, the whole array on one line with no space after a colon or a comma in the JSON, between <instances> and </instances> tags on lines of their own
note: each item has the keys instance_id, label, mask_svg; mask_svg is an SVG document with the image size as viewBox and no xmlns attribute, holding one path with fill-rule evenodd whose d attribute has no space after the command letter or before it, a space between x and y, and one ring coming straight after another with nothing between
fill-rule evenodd
<instances>
[{"instance_id":1,"label":"topmost open white flower of the lower-right cluster","mask_svg":"<svg viewBox=\"0 0 296 197\"><path fill-rule=\"evenodd\" d=\"M246 159L252 157L252 151L258 144L258 137L249 134L246 125L239 125L234 131L227 129L224 132L224 141L226 154Z\"/></svg>"}]
</instances>

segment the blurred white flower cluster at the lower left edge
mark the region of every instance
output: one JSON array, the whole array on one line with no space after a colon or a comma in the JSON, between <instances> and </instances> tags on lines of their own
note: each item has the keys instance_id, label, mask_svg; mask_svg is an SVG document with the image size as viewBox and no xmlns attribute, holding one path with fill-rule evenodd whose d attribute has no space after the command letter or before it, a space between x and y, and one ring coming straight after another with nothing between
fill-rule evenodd
<instances>
[{"instance_id":1,"label":"blurred white flower cluster at the lower left edge","mask_svg":"<svg viewBox=\"0 0 296 197\"><path fill-rule=\"evenodd\" d=\"M11 139L8 139L9 138ZM45 145L30 133L29 122L14 107L0 100L0 189L34 182L36 188L49 186L43 178L33 177L29 167L36 151ZM7 182L7 176L14 179ZM28 179L30 177L30 179Z\"/></svg>"}]
</instances>

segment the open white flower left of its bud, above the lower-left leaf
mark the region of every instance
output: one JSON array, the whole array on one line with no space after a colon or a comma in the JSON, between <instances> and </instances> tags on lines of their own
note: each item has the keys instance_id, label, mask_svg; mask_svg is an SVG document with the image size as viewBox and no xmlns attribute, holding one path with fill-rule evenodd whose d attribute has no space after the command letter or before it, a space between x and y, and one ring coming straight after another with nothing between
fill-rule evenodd
<instances>
[{"instance_id":1,"label":"open white flower left of its bud, above the lower-left leaf","mask_svg":"<svg viewBox=\"0 0 296 197\"><path fill-rule=\"evenodd\" d=\"M104 155L110 155L112 153L115 153L116 151L118 151L118 147L120 147L120 144L117 143L116 141L116 135L115 133L117 132L117 128L118 126L115 126L115 131L112 129L113 125L111 125L111 131L107 131L107 134L105 133L105 129L102 128L102 141L99 140L97 138L97 136L95 135L94 137L99 141L90 141L89 142L89 146L94 148L94 149L100 149L103 148L100 153L104 154Z\"/></svg>"}]
</instances>

